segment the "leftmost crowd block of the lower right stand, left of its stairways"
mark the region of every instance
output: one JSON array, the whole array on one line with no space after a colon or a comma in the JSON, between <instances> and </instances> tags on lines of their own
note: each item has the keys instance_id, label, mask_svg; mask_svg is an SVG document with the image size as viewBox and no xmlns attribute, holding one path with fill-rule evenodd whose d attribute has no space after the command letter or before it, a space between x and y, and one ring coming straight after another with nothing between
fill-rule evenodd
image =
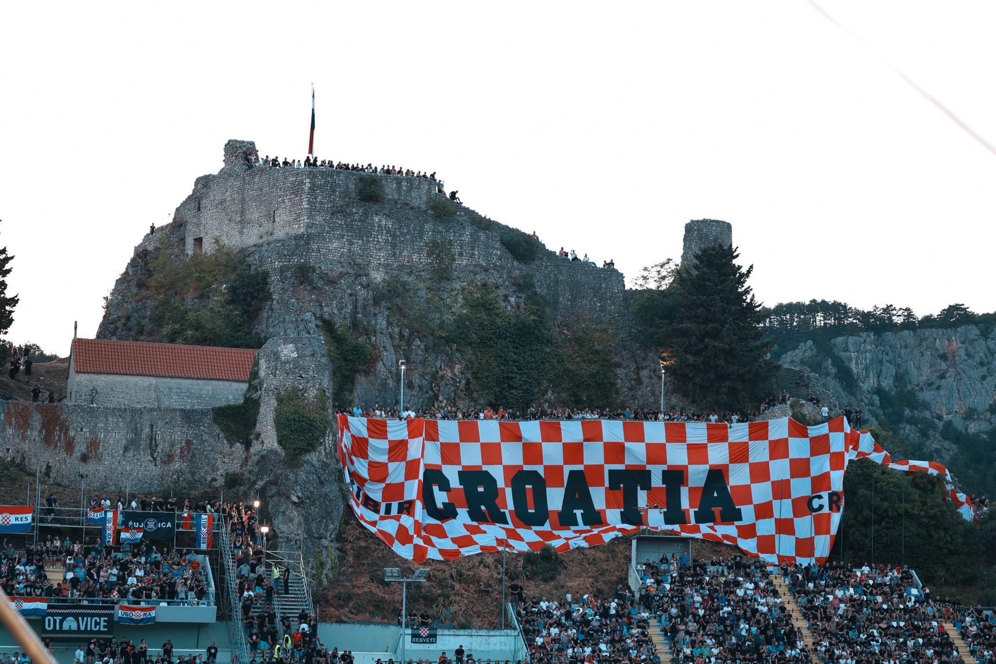
<instances>
[{"instance_id":1,"label":"leftmost crowd block of the lower right stand, left of its stairways","mask_svg":"<svg viewBox=\"0 0 996 664\"><path fill-rule=\"evenodd\" d=\"M574 603L526 600L516 606L533 664L567 662L658 662L649 634L649 612L638 611L631 596L617 592L611 599L585 594Z\"/></svg>"}]
</instances>

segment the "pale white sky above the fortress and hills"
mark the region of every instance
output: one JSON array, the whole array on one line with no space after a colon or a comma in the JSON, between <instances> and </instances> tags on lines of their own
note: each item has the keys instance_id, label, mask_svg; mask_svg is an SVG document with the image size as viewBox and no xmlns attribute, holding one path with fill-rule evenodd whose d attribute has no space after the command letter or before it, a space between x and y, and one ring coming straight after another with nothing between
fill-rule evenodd
<instances>
[{"instance_id":1,"label":"pale white sky above the fortress and hills","mask_svg":"<svg viewBox=\"0 0 996 664\"><path fill-rule=\"evenodd\" d=\"M67 354L229 138L437 171L627 281L733 224L758 299L996 309L996 5L8 3L8 338ZM849 34L850 33L850 34Z\"/></svg>"}]
</instances>

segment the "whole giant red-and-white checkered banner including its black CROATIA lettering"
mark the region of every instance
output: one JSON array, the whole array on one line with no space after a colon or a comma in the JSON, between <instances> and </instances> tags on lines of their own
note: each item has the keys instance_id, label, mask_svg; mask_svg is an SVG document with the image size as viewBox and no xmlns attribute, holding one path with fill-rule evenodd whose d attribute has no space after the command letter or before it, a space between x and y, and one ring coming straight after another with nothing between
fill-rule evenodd
<instances>
[{"instance_id":1,"label":"whole giant red-and-white checkered banner including its black CROATIA lettering","mask_svg":"<svg viewBox=\"0 0 996 664\"><path fill-rule=\"evenodd\" d=\"M735 545L769 561L822 563L858 458L893 462L845 418L806 427L621 420L501 422L338 417L339 456L357 518L394 553L421 561L508 549L559 552L641 528Z\"/></svg>"}]
</instances>

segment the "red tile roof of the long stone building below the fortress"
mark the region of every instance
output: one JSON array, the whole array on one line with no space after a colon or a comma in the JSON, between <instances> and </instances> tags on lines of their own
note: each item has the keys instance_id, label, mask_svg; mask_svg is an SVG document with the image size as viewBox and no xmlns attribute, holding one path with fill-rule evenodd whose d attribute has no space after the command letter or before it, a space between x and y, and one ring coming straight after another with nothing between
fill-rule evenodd
<instances>
[{"instance_id":1,"label":"red tile roof of the long stone building below the fortress","mask_svg":"<svg viewBox=\"0 0 996 664\"><path fill-rule=\"evenodd\" d=\"M254 348L75 338L73 367L78 373L248 382L257 352Z\"/></svg>"}]
</instances>

